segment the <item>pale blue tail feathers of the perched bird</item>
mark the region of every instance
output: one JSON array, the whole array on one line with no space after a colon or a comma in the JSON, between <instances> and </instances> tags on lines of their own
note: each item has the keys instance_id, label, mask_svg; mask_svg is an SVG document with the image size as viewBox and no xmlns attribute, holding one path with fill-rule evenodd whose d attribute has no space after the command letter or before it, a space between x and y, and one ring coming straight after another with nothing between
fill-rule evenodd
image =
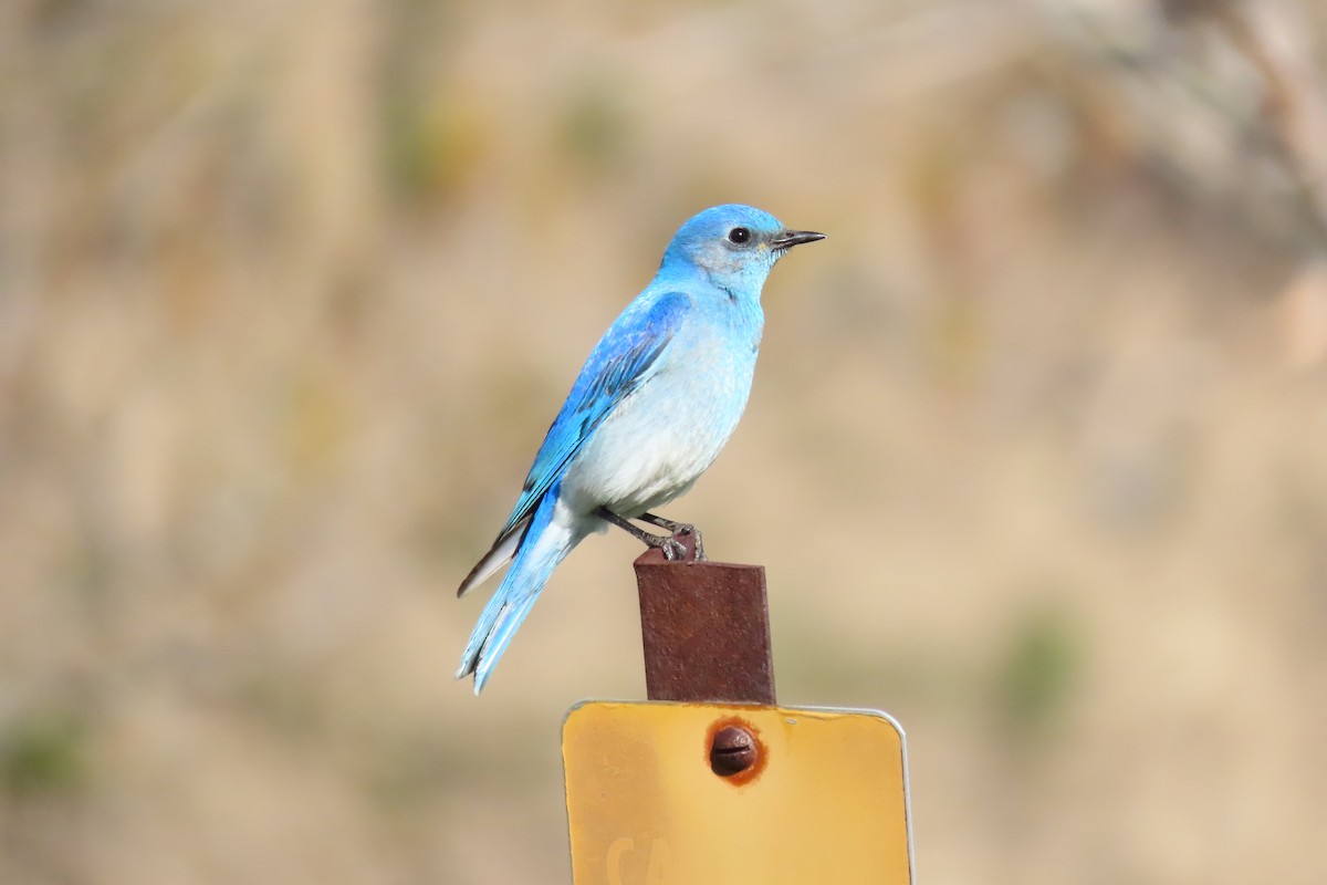
<instances>
[{"instance_id":1,"label":"pale blue tail feathers of the perched bird","mask_svg":"<svg viewBox=\"0 0 1327 885\"><path fill-rule=\"evenodd\" d=\"M484 605L479 622L470 634L470 644L460 655L456 678L474 674L475 694L483 691L494 666L529 614L553 569L584 537L584 532L553 519L557 492L559 487L555 484L535 510L511 568Z\"/></svg>"}]
</instances>

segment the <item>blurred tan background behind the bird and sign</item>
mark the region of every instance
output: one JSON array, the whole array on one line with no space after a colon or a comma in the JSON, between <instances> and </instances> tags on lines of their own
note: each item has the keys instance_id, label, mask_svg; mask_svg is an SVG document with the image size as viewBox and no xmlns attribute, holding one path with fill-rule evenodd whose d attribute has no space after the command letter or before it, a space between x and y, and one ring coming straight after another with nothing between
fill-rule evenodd
<instances>
[{"instance_id":1,"label":"blurred tan background behind the bird and sign","mask_svg":"<svg viewBox=\"0 0 1327 885\"><path fill-rule=\"evenodd\" d=\"M568 882L644 695L591 539L454 588L694 211L829 234L669 511L780 699L908 728L932 882L1327 877L1327 11L0 11L0 882Z\"/></svg>"}]
</instances>

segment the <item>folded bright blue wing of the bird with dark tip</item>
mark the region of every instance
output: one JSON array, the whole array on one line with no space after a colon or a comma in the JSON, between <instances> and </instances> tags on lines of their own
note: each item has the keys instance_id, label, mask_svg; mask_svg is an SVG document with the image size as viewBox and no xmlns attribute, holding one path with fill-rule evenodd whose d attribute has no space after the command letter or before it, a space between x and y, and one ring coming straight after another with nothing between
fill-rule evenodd
<instances>
[{"instance_id":1,"label":"folded bright blue wing of the bird with dark tip","mask_svg":"<svg viewBox=\"0 0 1327 885\"><path fill-rule=\"evenodd\" d=\"M568 462L613 409L657 372L660 354L681 326L690 303L682 292L637 299L604 333L548 429L507 524L498 532L492 549L460 584L456 596L463 596L515 555L548 487L563 475Z\"/></svg>"}]
</instances>

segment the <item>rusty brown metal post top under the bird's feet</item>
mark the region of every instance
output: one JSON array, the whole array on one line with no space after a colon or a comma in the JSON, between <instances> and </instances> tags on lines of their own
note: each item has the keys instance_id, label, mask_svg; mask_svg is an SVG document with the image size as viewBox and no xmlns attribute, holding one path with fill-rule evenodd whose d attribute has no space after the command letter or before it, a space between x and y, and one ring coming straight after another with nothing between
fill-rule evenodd
<instances>
[{"instance_id":1,"label":"rusty brown metal post top under the bird's feet","mask_svg":"<svg viewBox=\"0 0 1327 885\"><path fill-rule=\"evenodd\" d=\"M774 706L774 661L764 568L669 563L658 549L636 560L645 687L650 701Z\"/></svg>"}]
</instances>

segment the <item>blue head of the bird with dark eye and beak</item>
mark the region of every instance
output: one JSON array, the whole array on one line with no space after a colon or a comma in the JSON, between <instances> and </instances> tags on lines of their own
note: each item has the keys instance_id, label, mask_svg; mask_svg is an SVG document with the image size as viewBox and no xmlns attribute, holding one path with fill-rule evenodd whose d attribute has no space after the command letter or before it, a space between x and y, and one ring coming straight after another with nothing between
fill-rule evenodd
<instances>
[{"instance_id":1,"label":"blue head of the bird with dark eye and beak","mask_svg":"<svg viewBox=\"0 0 1327 885\"><path fill-rule=\"evenodd\" d=\"M759 295L775 261L799 243L823 240L815 231L790 231L779 219L751 206L707 208L689 220L664 253L664 269L694 267L715 285Z\"/></svg>"}]
</instances>

